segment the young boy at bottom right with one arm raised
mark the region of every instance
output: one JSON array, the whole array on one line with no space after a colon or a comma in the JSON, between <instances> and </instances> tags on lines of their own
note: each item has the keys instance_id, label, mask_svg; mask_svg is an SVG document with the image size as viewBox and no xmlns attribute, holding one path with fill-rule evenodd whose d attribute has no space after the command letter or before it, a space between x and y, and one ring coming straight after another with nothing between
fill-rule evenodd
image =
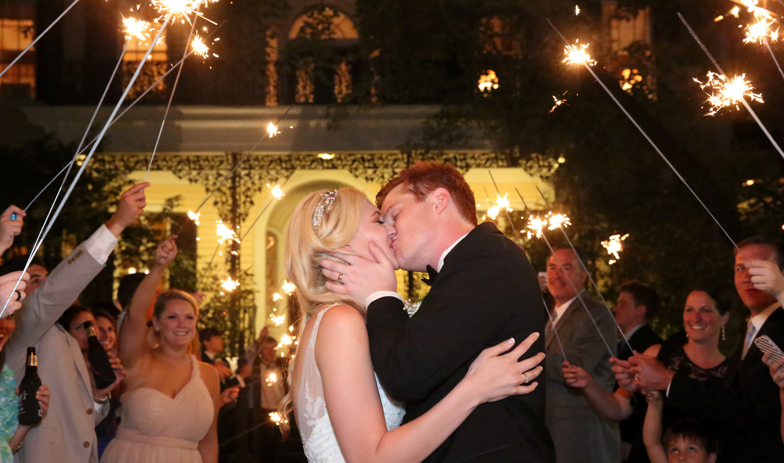
<instances>
[{"instance_id":1,"label":"young boy at bottom right with one arm raised","mask_svg":"<svg viewBox=\"0 0 784 463\"><path fill-rule=\"evenodd\" d=\"M717 442L695 419L675 422L662 437L664 397L659 391L645 393L648 413L643 426L643 441L651 463L716 463Z\"/></svg>"}]
</instances>

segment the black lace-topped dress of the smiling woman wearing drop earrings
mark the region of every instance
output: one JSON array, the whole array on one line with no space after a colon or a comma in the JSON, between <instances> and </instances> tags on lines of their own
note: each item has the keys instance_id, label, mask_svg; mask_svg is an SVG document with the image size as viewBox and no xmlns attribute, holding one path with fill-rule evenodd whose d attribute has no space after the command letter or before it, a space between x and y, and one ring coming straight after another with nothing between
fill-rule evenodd
<instances>
[{"instance_id":1,"label":"black lace-topped dress of the smiling woman wearing drop earrings","mask_svg":"<svg viewBox=\"0 0 784 463\"><path fill-rule=\"evenodd\" d=\"M686 355L686 351L684 350L684 336L680 335L681 333L670 336L670 339L667 339L662 343L662 348L659 350L659 355L656 356L656 360L662 362L662 364L670 370L688 375L689 378L698 381L707 381L712 378L724 378L724 375L727 373L729 359L725 358L723 362L717 364L713 368L702 368L691 361L688 355ZM717 423L706 422L705 417L691 415L686 411L671 407L665 402L662 410L662 432L666 431L674 422L688 418L699 419L709 429L719 429ZM633 461L635 463L650 461L648 460L648 451L645 450L645 444L642 441L642 434L632 443L632 450L627 461Z\"/></svg>"}]
</instances>

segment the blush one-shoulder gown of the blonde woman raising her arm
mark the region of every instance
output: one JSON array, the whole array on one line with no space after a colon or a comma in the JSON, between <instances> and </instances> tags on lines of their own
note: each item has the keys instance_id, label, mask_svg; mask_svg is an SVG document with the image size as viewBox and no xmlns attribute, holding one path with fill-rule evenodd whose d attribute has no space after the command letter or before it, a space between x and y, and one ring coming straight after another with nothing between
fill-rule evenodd
<instances>
[{"instance_id":1,"label":"blush one-shoulder gown of the blonde woman raising her arm","mask_svg":"<svg viewBox=\"0 0 784 463\"><path fill-rule=\"evenodd\" d=\"M196 357L191 361L191 380L173 399L147 387L122 395L122 421L101 463L201 463L198 443L215 409Z\"/></svg>"}]
</instances>

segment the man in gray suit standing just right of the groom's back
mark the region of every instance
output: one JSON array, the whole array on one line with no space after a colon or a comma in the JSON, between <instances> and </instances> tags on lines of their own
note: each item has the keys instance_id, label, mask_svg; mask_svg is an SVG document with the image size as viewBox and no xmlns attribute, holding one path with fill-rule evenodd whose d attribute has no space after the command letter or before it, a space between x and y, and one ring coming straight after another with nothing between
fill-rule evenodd
<instances>
[{"instance_id":1,"label":"man in gray suit standing just right of the groom's back","mask_svg":"<svg viewBox=\"0 0 784 463\"><path fill-rule=\"evenodd\" d=\"M609 363L611 350L615 356L615 321L584 290L588 275L579 259L571 248L555 248L547 259L547 288L555 303L545 328L546 423L557 463L615 463L621 461L618 422L594 411L583 389L567 386L561 372L565 354L569 362L588 371L602 389L612 393L615 385Z\"/></svg>"}]
</instances>

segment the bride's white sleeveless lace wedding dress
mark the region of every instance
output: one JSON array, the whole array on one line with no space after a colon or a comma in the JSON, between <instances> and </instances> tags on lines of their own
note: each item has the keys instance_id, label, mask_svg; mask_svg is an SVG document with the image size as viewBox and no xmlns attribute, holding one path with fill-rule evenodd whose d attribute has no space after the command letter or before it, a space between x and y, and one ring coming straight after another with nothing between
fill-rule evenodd
<instances>
[{"instance_id":1,"label":"bride's white sleeveless lace wedding dress","mask_svg":"<svg viewBox=\"0 0 784 463\"><path fill-rule=\"evenodd\" d=\"M345 463L346 461L343 459L343 454L340 453L335 431L332 429L332 423L329 421L327 407L324 403L324 389L321 386L321 374L318 372L314 355L316 335L318 334L318 325L321 323L321 317L330 307L335 307L336 305L338 304L332 304L318 312L316 322L313 325L313 332L310 334L305 351L301 354L304 364L302 379L299 382L296 421L299 426L299 433L302 436L305 456L309 463ZM376 385L379 386L379 396L381 397L381 405L384 410L384 420L387 422L387 430L395 429L403 421L405 407L387 396L379 382L378 376L376 376Z\"/></svg>"}]
</instances>

